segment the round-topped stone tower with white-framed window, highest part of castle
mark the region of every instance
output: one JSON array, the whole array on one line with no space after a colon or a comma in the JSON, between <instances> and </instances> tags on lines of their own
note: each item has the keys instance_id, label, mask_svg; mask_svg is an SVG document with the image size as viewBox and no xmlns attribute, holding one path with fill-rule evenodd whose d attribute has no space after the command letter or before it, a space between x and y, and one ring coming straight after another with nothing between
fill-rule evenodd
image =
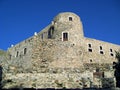
<instances>
[{"instance_id":1,"label":"round-topped stone tower with white-framed window, highest part of castle","mask_svg":"<svg viewBox=\"0 0 120 90\"><path fill-rule=\"evenodd\" d=\"M55 31L53 37L56 40L78 43L84 36L80 17L71 12L58 14L53 23Z\"/></svg>"}]
</instances>

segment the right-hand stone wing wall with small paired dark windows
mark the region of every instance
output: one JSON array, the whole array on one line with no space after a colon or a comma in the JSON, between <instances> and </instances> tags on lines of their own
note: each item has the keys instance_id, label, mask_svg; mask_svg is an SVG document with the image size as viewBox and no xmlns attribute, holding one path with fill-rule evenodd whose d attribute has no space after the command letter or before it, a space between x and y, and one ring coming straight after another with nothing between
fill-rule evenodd
<instances>
[{"instance_id":1,"label":"right-hand stone wing wall with small paired dark windows","mask_svg":"<svg viewBox=\"0 0 120 90\"><path fill-rule=\"evenodd\" d=\"M116 61L115 51L120 49L119 45L90 38L82 39L81 44L84 46L84 62L86 63L112 63ZM89 51L89 49L92 51Z\"/></svg>"}]
</instances>

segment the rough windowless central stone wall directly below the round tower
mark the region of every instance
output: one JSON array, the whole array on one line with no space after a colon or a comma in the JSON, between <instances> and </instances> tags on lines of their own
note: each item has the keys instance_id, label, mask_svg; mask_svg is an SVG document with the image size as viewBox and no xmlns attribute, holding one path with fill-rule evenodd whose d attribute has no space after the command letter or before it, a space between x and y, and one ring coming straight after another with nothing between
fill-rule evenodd
<instances>
[{"instance_id":1,"label":"rough windowless central stone wall directly below the round tower","mask_svg":"<svg viewBox=\"0 0 120 90\"><path fill-rule=\"evenodd\" d=\"M35 43L36 42L36 43ZM79 48L79 49L78 49ZM37 69L51 68L81 68L82 47L75 46L71 42L55 40L40 41L39 36L34 37L32 55L33 66ZM40 70L38 70L40 71Z\"/></svg>"}]
</instances>

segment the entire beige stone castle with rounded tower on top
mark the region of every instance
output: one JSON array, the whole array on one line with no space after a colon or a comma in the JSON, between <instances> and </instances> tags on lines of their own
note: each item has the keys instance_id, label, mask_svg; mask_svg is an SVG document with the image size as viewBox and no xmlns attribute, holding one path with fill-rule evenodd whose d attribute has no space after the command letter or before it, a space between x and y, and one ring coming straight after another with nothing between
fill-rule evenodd
<instances>
[{"instance_id":1,"label":"entire beige stone castle with rounded tower on top","mask_svg":"<svg viewBox=\"0 0 120 90\"><path fill-rule=\"evenodd\" d=\"M46 28L0 56L3 88L114 87L112 63L119 49L84 37L80 17L60 13Z\"/></svg>"}]
</instances>

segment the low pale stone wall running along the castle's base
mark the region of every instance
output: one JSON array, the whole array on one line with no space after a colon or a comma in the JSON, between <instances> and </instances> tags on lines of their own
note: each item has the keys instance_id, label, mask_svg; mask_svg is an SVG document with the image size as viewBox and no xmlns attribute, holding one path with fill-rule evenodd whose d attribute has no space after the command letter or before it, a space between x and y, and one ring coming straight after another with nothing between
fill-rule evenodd
<instances>
[{"instance_id":1,"label":"low pale stone wall running along the castle's base","mask_svg":"<svg viewBox=\"0 0 120 90\"><path fill-rule=\"evenodd\" d=\"M114 77L111 72L100 76L100 72L91 71L62 73L7 73L3 88L113 88Z\"/></svg>"}]
</instances>

